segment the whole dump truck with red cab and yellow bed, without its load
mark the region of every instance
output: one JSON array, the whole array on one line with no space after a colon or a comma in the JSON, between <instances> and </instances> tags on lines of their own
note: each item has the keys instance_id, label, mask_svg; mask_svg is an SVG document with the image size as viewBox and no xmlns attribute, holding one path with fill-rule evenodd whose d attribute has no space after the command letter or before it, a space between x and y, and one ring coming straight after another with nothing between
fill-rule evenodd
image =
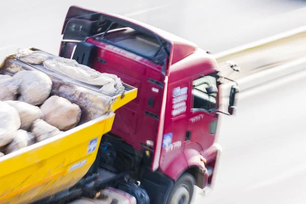
<instances>
[{"instance_id":1,"label":"whole dump truck with red cab and yellow bed, without its load","mask_svg":"<svg viewBox=\"0 0 306 204\"><path fill-rule=\"evenodd\" d=\"M68 9L62 35L59 57L117 75L124 92L101 93L9 56L3 70L17 64L44 71L58 85L54 94L71 86L73 94L64 95L98 117L0 158L0 202L187 204L194 186L210 188L220 115L235 113L239 92L213 55L151 25L79 6ZM225 80L234 82L229 93L221 88Z\"/></svg>"}]
</instances>

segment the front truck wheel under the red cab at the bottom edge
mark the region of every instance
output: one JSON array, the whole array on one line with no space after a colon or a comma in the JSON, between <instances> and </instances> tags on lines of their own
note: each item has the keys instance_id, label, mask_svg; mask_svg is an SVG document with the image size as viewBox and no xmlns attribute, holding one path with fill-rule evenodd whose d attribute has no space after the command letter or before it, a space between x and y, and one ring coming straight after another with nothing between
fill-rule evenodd
<instances>
[{"instance_id":1,"label":"front truck wheel under the red cab at the bottom edge","mask_svg":"<svg viewBox=\"0 0 306 204\"><path fill-rule=\"evenodd\" d=\"M167 204L189 204L193 195L194 185L194 177L189 173L184 173L172 187Z\"/></svg>"}]
</instances>

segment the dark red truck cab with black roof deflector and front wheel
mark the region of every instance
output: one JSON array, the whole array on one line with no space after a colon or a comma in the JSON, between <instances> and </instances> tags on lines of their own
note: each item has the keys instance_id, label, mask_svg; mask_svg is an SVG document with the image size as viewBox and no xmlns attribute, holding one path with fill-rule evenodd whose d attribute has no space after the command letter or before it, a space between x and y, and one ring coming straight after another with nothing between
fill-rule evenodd
<instances>
[{"instance_id":1,"label":"dark red truck cab with black roof deflector and front wheel","mask_svg":"<svg viewBox=\"0 0 306 204\"><path fill-rule=\"evenodd\" d=\"M69 8L60 56L138 88L118 109L95 165L140 181L150 203L189 203L213 182L222 101L218 64L195 44L112 14ZM233 87L229 110L235 106ZM230 111L232 112L232 111Z\"/></svg>"}]
</instances>

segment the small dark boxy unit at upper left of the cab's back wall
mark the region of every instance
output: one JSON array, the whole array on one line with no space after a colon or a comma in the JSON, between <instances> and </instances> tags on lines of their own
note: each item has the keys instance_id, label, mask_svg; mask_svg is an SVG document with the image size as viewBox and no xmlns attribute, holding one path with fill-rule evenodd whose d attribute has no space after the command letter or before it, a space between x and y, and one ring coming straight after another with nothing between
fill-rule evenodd
<instances>
[{"instance_id":1,"label":"small dark boxy unit at upper left of the cab's back wall","mask_svg":"<svg viewBox=\"0 0 306 204\"><path fill-rule=\"evenodd\" d=\"M89 42L80 42L75 47L72 59L76 60L79 64L92 67L93 59L96 57L97 48Z\"/></svg>"}]
</instances>

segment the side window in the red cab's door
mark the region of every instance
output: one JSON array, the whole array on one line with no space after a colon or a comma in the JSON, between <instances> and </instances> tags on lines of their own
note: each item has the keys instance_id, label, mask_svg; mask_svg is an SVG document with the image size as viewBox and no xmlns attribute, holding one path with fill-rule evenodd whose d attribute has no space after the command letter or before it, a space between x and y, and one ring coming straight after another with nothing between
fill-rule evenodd
<instances>
[{"instance_id":1,"label":"side window in the red cab's door","mask_svg":"<svg viewBox=\"0 0 306 204\"><path fill-rule=\"evenodd\" d=\"M213 111L218 108L216 74L201 76L192 82L192 109Z\"/></svg>"}]
</instances>

